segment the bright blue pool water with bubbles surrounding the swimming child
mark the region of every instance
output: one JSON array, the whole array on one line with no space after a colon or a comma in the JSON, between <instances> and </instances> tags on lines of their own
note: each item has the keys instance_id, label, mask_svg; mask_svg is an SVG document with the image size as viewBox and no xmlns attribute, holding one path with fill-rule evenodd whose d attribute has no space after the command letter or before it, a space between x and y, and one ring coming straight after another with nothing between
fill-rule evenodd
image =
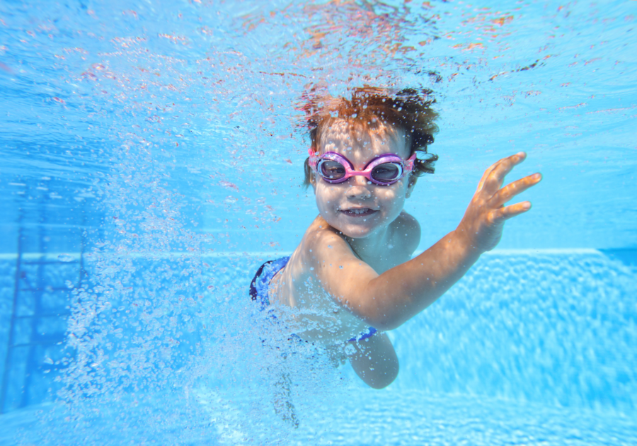
<instances>
[{"instance_id":1,"label":"bright blue pool water with bubbles surrounding the swimming child","mask_svg":"<svg viewBox=\"0 0 637 446\"><path fill-rule=\"evenodd\" d=\"M0 444L635 444L636 6L1 2ZM420 250L544 175L382 391L247 297L316 216L303 91L364 84L435 91Z\"/></svg>"}]
</instances>

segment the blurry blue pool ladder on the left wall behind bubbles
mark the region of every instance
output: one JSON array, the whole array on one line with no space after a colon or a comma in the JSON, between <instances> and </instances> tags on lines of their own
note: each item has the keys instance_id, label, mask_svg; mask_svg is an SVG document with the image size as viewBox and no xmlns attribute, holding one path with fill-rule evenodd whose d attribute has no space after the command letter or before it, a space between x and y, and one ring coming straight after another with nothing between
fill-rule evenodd
<instances>
[{"instance_id":1,"label":"blurry blue pool ladder on the left wall behind bubbles","mask_svg":"<svg viewBox=\"0 0 637 446\"><path fill-rule=\"evenodd\" d=\"M86 279L84 234L81 252L73 260L46 256L42 240L40 253L25 254L23 237L20 227L8 342L5 358L0 358L4 360L0 413L50 401L57 384L54 377L68 363L69 354L72 355L64 346L70 314L69 293ZM67 278L74 278L72 285L47 283L52 277L63 277L62 270L66 270Z\"/></svg>"}]
</instances>

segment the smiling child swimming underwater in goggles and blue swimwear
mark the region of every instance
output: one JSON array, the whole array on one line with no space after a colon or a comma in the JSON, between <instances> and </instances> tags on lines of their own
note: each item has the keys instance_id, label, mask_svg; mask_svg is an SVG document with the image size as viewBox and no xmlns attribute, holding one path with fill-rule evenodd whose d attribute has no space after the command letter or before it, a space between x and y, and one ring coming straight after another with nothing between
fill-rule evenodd
<instances>
[{"instance_id":1,"label":"smiling child swimming underwater in goggles and blue swimwear","mask_svg":"<svg viewBox=\"0 0 637 446\"><path fill-rule=\"evenodd\" d=\"M285 324L297 336L340 346L374 389L398 375L385 331L435 302L493 249L504 222L531 208L528 201L505 203L541 181L535 173L502 187L526 154L500 159L482 176L458 227L412 258L420 225L403 205L437 159L427 154L437 132L430 93L364 87L351 99L326 96L306 105L305 185L314 189L319 216L289 258L266 262L251 285L262 309L292 309Z\"/></svg>"}]
</instances>

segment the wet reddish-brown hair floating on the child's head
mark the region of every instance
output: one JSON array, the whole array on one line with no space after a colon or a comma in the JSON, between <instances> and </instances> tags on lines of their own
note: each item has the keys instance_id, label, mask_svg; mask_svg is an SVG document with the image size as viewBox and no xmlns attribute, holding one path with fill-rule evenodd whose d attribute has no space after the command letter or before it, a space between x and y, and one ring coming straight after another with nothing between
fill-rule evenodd
<instances>
[{"instance_id":1,"label":"wet reddish-brown hair floating on the child's head","mask_svg":"<svg viewBox=\"0 0 637 446\"><path fill-rule=\"evenodd\" d=\"M335 120L346 120L352 125L371 130L377 120L396 127L408 137L409 156L415 151L427 154L426 158L415 160L411 176L423 176L434 173L434 164L438 159L435 154L427 153L427 146L434 142L438 131L435 120L438 114L432 110L435 103L432 91L425 88L405 88L391 91L386 88L360 87L352 90L351 99L333 98L328 95L306 95L306 103L302 110L306 113L311 148L319 151L319 140L323 129L330 127ZM305 160L305 181L311 184L311 168L309 158Z\"/></svg>"}]
</instances>

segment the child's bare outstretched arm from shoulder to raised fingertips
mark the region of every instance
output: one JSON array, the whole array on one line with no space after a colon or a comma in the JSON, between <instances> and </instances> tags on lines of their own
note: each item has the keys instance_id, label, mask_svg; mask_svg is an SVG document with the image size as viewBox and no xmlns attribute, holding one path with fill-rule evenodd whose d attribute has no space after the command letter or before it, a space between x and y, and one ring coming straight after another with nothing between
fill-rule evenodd
<instances>
[{"instance_id":1,"label":"child's bare outstretched arm from shoulder to raised fingertips","mask_svg":"<svg viewBox=\"0 0 637 446\"><path fill-rule=\"evenodd\" d=\"M449 290L482 253L493 249L507 219L531 208L528 201L505 203L539 183L539 173L502 187L507 173L525 158L520 152L490 166L457 229L420 256L378 275L343 252L332 257L329 267L321 268L319 279L331 295L370 325L381 330L400 326Z\"/></svg>"}]
</instances>

